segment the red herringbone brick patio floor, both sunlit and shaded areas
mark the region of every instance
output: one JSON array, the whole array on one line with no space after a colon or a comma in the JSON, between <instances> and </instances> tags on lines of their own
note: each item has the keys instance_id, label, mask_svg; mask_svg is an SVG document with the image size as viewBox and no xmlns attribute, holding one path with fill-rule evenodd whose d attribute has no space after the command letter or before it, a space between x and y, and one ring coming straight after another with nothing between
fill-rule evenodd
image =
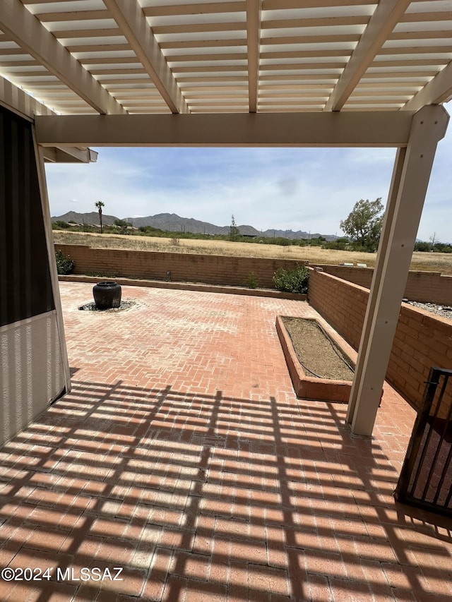
<instances>
[{"instance_id":1,"label":"red herringbone brick patio floor, both sunlit and shaded areas","mask_svg":"<svg viewBox=\"0 0 452 602\"><path fill-rule=\"evenodd\" d=\"M61 283L73 391L0 452L0 565L52 579L1 601L452 600L452 522L392 497L408 404L370 439L294 395L275 316L306 302L91 288Z\"/></svg>"}]
</instances>

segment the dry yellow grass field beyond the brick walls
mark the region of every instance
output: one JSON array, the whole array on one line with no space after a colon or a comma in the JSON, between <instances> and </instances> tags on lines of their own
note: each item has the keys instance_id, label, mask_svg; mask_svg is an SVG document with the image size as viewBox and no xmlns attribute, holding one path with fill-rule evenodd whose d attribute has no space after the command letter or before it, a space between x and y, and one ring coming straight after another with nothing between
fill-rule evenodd
<instances>
[{"instance_id":1,"label":"dry yellow grass field beyond the brick walls","mask_svg":"<svg viewBox=\"0 0 452 602\"><path fill-rule=\"evenodd\" d=\"M203 255L234 255L275 259L307 260L309 263L339 265L365 263L374 267L376 253L335 251L316 246L280 246L259 243L238 243L210 239L166 239L127 234L97 234L54 230L54 241L60 244L88 245L94 248L119 248L131 251L167 253L198 253ZM412 254L411 270L425 270L452 275L452 253Z\"/></svg>"}]
</instances>

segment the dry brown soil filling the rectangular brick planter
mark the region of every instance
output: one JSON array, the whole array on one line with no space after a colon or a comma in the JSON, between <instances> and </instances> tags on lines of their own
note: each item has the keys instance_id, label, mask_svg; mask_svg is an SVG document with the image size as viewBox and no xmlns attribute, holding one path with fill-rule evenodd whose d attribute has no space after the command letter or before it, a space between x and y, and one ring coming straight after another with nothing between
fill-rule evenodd
<instances>
[{"instance_id":1,"label":"dry brown soil filling the rectangular brick planter","mask_svg":"<svg viewBox=\"0 0 452 602\"><path fill-rule=\"evenodd\" d=\"M286 317L282 320L307 376L353 380L350 360L314 320Z\"/></svg>"}]
</instances>

